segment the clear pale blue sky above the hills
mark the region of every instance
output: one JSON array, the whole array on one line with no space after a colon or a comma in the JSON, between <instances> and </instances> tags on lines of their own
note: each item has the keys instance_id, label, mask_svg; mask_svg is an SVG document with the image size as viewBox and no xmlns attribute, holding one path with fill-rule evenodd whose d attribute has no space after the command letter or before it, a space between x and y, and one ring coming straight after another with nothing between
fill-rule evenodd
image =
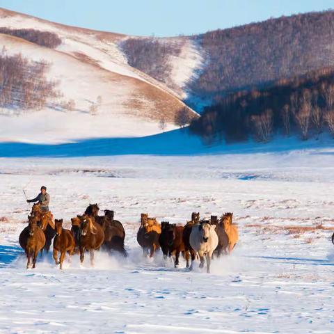
<instances>
[{"instance_id":1,"label":"clear pale blue sky above the hills","mask_svg":"<svg viewBox=\"0 0 334 334\"><path fill-rule=\"evenodd\" d=\"M52 22L129 35L192 35L334 8L334 0L0 0Z\"/></svg>"}]
</instances>

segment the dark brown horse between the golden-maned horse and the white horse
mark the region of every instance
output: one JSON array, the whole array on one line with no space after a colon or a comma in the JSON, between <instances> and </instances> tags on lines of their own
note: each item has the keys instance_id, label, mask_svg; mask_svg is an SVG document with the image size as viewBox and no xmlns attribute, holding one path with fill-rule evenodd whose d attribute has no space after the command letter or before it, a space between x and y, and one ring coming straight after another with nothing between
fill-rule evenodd
<instances>
[{"instance_id":1,"label":"dark brown horse between the golden-maned horse and the white horse","mask_svg":"<svg viewBox=\"0 0 334 334\"><path fill-rule=\"evenodd\" d=\"M179 267L179 256L181 252L184 252L184 243L182 241L183 230L183 226L170 224L168 221L161 222L159 244L165 259L167 256L170 257L172 256L172 253L175 253L175 268ZM189 262L189 255L186 260Z\"/></svg>"}]
</instances>

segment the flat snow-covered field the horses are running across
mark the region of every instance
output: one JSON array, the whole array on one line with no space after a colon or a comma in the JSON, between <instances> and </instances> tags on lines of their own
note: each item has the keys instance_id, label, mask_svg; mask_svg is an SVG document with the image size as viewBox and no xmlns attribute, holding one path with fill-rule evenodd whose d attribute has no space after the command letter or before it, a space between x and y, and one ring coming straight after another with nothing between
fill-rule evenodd
<instances>
[{"instance_id":1,"label":"flat snow-covered field the horses are running across","mask_svg":"<svg viewBox=\"0 0 334 334\"><path fill-rule=\"evenodd\" d=\"M0 333L333 333L332 153L0 159ZM42 184L67 225L89 202L116 210L129 258L27 271L22 188ZM231 256L211 274L142 257L141 212L184 224L193 211L234 212Z\"/></svg>"}]
</instances>

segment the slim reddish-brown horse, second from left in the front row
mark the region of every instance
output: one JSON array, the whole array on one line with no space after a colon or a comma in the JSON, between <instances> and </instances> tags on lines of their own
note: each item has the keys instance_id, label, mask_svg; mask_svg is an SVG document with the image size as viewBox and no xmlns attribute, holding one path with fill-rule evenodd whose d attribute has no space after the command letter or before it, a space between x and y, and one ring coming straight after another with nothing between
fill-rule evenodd
<instances>
[{"instance_id":1,"label":"slim reddish-brown horse, second from left in the front row","mask_svg":"<svg viewBox=\"0 0 334 334\"><path fill-rule=\"evenodd\" d=\"M70 230L63 228L63 219L56 219L56 237L54 237L54 261L60 264L59 269L63 269L65 253L72 256L74 253L74 238ZM61 258L58 261L58 252L61 252Z\"/></svg>"}]
</instances>

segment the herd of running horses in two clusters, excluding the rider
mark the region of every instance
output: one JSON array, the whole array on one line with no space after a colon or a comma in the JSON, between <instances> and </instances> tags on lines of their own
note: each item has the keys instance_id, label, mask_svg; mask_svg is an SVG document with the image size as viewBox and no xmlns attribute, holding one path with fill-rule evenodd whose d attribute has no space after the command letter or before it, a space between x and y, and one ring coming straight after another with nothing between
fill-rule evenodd
<instances>
[{"instance_id":1,"label":"herd of running horses in two clusters, excluding the rider","mask_svg":"<svg viewBox=\"0 0 334 334\"><path fill-rule=\"evenodd\" d=\"M72 228L63 228L63 219L55 219L51 212L42 212L40 205L34 204L28 216L28 225L19 235L19 244L27 257L26 268L35 268L38 254L49 252L52 240L54 261L63 269L65 254L70 257L80 255L84 262L86 251L90 253L90 262L94 265L95 250L107 250L127 257L125 250L125 229L122 223L114 219L112 210L104 210L99 215L97 204L90 204L84 214L71 218ZM186 267L193 269L196 257L200 258L200 268L207 261L207 272L214 256L220 257L232 252L238 240L237 226L232 224L232 213L211 216L209 220L200 220L200 213L193 212L191 221L186 225L171 224L168 221L158 223L157 218L141 214L141 225L137 232L138 244L145 256L153 257L157 249L162 250L164 258L174 257L175 268L182 254ZM60 253L60 257L58 257Z\"/></svg>"}]
</instances>

